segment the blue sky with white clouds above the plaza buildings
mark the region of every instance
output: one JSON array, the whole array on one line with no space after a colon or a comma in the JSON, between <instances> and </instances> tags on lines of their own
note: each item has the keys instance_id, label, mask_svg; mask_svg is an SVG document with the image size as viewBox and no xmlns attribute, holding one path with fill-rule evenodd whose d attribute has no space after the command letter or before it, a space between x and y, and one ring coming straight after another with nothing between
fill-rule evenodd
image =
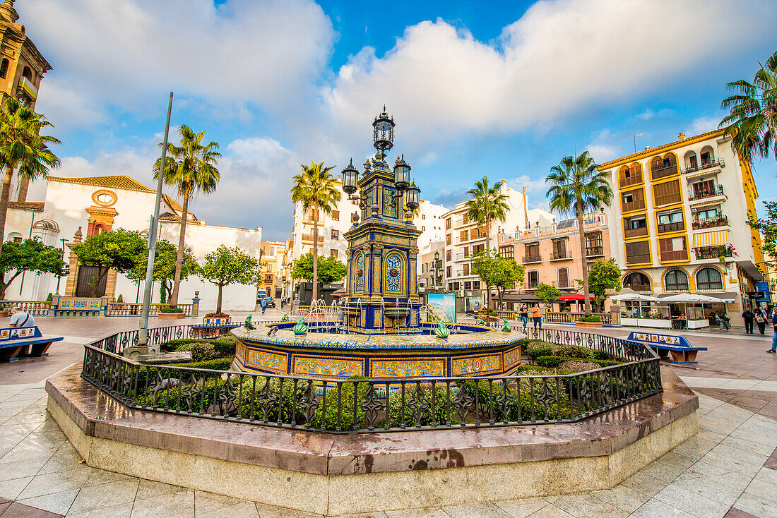
<instances>
[{"instance_id":1,"label":"blue sky with white clouds above the plaza buildings","mask_svg":"<svg viewBox=\"0 0 777 518\"><path fill-rule=\"evenodd\" d=\"M172 124L224 154L215 224L291 232L300 163L340 171L371 154L385 103L394 153L422 197L452 206L481 176L526 186L565 155L598 162L717 126L726 82L777 50L777 2L306 2L25 0L20 22L54 66L37 109L57 127L63 176L151 183L167 92ZM758 164L761 200L775 162ZM33 195L41 193L41 186ZM759 203L760 204L760 203Z\"/></svg>"}]
</instances>

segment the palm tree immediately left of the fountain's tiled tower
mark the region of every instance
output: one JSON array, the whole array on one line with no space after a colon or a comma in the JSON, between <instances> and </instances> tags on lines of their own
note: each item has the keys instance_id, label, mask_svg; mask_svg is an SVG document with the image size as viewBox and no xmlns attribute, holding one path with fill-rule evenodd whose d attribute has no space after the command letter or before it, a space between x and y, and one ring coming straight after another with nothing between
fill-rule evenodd
<instances>
[{"instance_id":1,"label":"palm tree immediately left of the fountain's tiled tower","mask_svg":"<svg viewBox=\"0 0 777 518\"><path fill-rule=\"evenodd\" d=\"M310 162L310 167L300 165L302 172L295 175L291 188L291 203L300 203L303 214L311 214L313 220L313 296L311 304L319 295L319 210L331 215L340 201L337 181L329 176L333 168L324 167L324 162ZM303 216L303 219L305 217Z\"/></svg>"}]
</instances>

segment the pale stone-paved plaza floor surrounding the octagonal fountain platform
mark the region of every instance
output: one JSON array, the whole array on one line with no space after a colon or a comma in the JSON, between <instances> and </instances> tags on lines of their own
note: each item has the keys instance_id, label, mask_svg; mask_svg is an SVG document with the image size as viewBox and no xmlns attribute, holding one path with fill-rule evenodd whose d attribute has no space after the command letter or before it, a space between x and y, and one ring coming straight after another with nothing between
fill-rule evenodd
<instances>
[{"instance_id":1,"label":"pale stone-paved plaza floor surrounding the octagonal fountain platform","mask_svg":"<svg viewBox=\"0 0 777 518\"><path fill-rule=\"evenodd\" d=\"M246 314L247 315L247 314ZM267 318L281 315L268 310ZM256 315L257 317L259 315ZM245 315L242 315L244 318ZM255 318L258 320L260 318ZM0 364L0 516L317 516L89 468L46 411L44 384L81 361L82 344L136 318L38 318L64 335L50 355ZM192 323L191 318L176 323ZM152 319L152 327L169 321ZM565 327L563 329L570 329ZM625 337L629 329L605 329ZM615 488L361 518L715 516L777 518L777 358L771 336L684 332L699 353L672 368L699 395L699 433ZM290 495L293 498L293 495Z\"/></svg>"}]
</instances>

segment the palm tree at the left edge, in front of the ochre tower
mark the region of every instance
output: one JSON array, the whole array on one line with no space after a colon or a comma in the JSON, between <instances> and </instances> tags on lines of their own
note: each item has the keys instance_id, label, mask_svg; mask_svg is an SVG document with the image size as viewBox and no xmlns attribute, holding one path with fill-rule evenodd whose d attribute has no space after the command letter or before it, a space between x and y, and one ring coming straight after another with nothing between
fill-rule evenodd
<instances>
[{"instance_id":1,"label":"palm tree at the left edge, in front of the ochre tower","mask_svg":"<svg viewBox=\"0 0 777 518\"><path fill-rule=\"evenodd\" d=\"M18 172L19 179L34 180L59 166L59 158L49 146L61 142L54 137L40 135L40 130L49 127L54 126L45 116L5 95L0 106L0 167L5 169L0 193L0 246L5 237L5 216L13 173Z\"/></svg>"}]
</instances>

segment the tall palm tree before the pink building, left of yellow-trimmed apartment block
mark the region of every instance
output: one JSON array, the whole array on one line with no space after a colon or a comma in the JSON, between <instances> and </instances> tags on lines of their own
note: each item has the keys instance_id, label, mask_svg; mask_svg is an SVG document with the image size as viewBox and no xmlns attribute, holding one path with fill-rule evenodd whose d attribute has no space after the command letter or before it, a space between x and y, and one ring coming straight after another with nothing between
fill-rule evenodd
<instances>
[{"instance_id":1,"label":"tall palm tree before the pink building, left of yellow-trimmed apartment block","mask_svg":"<svg viewBox=\"0 0 777 518\"><path fill-rule=\"evenodd\" d=\"M548 189L550 210L559 214L577 216L577 233L580 235L580 252L583 259L583 296L585 314L591 315L591 301L588 290L588 262L585 249L585 232L583 214L588 210L598 210L609 205L612 200L612 189L608 183L608 175L599 171L599 165L594 158L584 151L582 155L562 158L559 165L551 169L545 182L552 184Z\"/></svg>"}]
</instances>

